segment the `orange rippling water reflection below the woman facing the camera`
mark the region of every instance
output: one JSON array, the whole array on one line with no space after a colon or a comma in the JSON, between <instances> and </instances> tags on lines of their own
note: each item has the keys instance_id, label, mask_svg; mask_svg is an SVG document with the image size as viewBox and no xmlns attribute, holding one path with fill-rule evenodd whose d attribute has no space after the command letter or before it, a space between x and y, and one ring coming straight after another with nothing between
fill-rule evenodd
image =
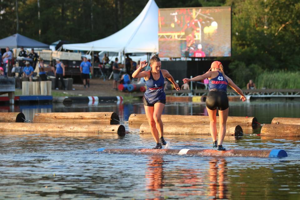
<instances>
[{"instance_id":1,"label":"orange rippling water reflection below the woman facing the camera","mask_svg":"<svg viewBox=\"0 0 300 200\"><path fill-rule=\"evenodd\" d=\"M147 178L146 189L154 195L154 198L147 199L164 199L159 191L159 189L163 188L163 156L151 156L147 165L148 168L145 174L145 178Z\"/></svg>"}]
</instances>

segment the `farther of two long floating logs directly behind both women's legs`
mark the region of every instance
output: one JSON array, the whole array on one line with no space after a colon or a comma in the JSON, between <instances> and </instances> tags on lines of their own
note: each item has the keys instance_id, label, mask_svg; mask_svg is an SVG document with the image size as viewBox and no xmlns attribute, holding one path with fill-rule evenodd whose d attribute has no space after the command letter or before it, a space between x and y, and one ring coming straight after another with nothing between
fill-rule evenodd
<instances>
[{"instance_id":1,"label":"farther of two long floating logs directly behind both women's legs","mask_svg":"<svg viewBox=\"0 0 300 200\"><path fill-rule=\"evenodd\" d=\"M201 123L209 124L208 116L198 115L162 115L163 123L168 122L180 122L180 123ZM131 114L128 119L128 123L142 124L148 122L145 114ZM217 116L217 124L219 123L219 117ZM255 117L228 117L227 124L239 124L256 127L257 119Z\"/></svg>"}]
</instances>

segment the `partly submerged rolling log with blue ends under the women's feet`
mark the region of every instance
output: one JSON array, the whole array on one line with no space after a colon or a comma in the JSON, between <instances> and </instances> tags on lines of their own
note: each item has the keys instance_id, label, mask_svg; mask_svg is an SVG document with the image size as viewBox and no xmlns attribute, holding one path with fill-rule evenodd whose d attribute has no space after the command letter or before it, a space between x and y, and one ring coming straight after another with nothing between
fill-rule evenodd
<instances>
[{"instance_id":1,"label":"partly submerged rolling log with blue ends under the women's feet","mask_svg":"<svg viewBox=\"0 0 300 200\"><path fill-rule=\"evenodd\" d=\"M259 157L259 158L281 158L287 157L287 152L282 149L270 150L246 150L230 149L217 151L212 149L121 149L121 148L99 148L97 152L134 154L134 155L189 155L201 157Z\"/></svg>"}]
</instances>

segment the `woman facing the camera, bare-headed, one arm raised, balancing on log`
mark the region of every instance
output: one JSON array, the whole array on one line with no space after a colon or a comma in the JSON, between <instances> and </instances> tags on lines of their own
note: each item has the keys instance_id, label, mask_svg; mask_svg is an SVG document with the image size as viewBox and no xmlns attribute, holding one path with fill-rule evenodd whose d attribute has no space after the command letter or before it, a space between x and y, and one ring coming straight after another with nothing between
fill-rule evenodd
<instances>
[{"instance_id":1,"label":"woman facing the camera, bare-headed, one arm raised, balancing on log","mask_svg":"<svg viewBox=\"0 0 300 200\"><path fill-rule=\"evenodd\" d=\"M164 69L161 69L162 63L157 56L150 59L151 69L142 71L148 65L146 61L141 61L139 68L132 74L133 78L144 78L147 85L147 90L144 95L145 113L150 125L150 131L156 141L154 149L161 149L162 145L166 145L163 138L163 122L161 116L163 108L166 104L166 94L163 91L164 80L168 78L174 85L176 90L180 90L177 83L175 83L171 74ZM159 134L159 137L158 137Z\"/></svg>"}]
</instances>

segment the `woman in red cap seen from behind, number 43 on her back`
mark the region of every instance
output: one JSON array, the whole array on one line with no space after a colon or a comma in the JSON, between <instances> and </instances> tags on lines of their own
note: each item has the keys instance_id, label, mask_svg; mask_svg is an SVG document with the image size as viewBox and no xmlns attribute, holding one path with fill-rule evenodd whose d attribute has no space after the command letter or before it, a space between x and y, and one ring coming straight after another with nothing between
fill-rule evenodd
<instances>
[{"instance_id":1,"label":"woman in red cap seen from behind, number 43 on her back","mask_svg":"<svg viewBox=\"0 0 300 200\"><path fill-rule=\"evenodd\" d=\"M212 71L210 71L212 70ZM212 62L211 68L205 74L194 78L184 78L183 83L190 81L201 81L208 78L209 93L206 98L206 109L210 119L210 134L212 135L213 148L217 148L219 151L226 150L223 146L223 140L226 133L226 121L228 117L229 105L227 98L227 85L234 89L239 95L241 95L242 101L246 100L246 97L242 90L233 83L233 81L227 77L223 70L223 65L219 61ZM219 124L220 130L217 142L217 108L219 110Z\"/></svg>"}]
</instances>

